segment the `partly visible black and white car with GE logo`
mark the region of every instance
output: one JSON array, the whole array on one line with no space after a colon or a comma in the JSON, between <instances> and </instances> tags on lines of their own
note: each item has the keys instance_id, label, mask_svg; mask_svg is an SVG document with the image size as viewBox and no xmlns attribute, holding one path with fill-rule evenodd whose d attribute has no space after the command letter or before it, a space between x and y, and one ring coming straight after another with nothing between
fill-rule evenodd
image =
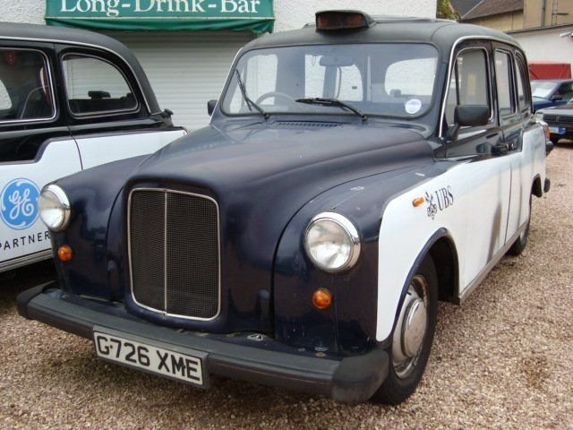
<instances>
[{"instance_id":1,"label":"partly visible black and white car with GE logo","mask_svg":"<svg viewBox=\"0 0 573 430\"><path fill-rule=\"evenodd\" d=\"M184 133L115 39L0 23L0 271L51 257L38 219L44 185Z\"/></svg>"}]
</instances>

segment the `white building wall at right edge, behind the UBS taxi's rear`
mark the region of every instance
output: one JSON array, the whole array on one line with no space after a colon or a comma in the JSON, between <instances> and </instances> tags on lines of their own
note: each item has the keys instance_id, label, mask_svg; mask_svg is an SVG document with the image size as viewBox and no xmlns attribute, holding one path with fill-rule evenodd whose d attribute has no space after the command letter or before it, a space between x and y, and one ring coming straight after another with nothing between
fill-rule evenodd
<instances>
[{"instance_id":1,"label":"white building wall at right edge, behind the UBS taxi's rear","mask_svg":"<svg viewBox=\"0 0 573 430\"><path fill-rule=\"evenodd\" d=\"M528 61L558 61L573 63L573 24L556 29L523 30L510 33L526 51Z\"/></svg>"}]
</instances>

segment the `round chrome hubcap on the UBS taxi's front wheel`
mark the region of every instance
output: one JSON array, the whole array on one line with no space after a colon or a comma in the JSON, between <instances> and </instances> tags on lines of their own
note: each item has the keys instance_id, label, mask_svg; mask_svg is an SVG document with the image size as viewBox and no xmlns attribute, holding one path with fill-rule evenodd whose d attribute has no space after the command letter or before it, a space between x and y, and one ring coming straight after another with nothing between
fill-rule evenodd
<instances>
[{"instance_id":1,"label":"round chrome hubcap on the UBS taxi's front wheel","mask_svg":"<svg viewBox=\"0 0 573 430\"><path fill-rule=\"evenodd\" d=\"M392 339L392 365L398 378L409 376L422 350L428 326L428 282L415 275L406 292Z\"/></svg>"}]
</instances>

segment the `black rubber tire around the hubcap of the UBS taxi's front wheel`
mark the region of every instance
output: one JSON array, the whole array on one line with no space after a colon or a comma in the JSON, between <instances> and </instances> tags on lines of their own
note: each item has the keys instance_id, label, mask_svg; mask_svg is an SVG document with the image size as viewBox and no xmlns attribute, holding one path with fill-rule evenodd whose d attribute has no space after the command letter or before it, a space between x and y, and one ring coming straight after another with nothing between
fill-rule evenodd
<instances>
[{"instance_id":1,"label":"black rubber tire around the hubcap of the UBS taxi's front wheel","mask_svg":"<svg viewBox=\"0 0 573 430\"><path fill-rule=\"evenodd\" d=\"M410 283L410 288L420 280L425 280L426 285L426 294L425 297L423 297L424 305L426 306L426 326L421 346L415 357L407 358L406 361L397 363L395 362L396 355L393 353L393 345L390 345L388 349L390 357L388 376L378 391L372 396L371 401L374 403L398 405L398 403L406 400L420 383L423 371L428 363L438 316L438 276L432 257L429 255L423 259L422 264L420 264L420 267L415 272L413 280ZM406 300L404 305L406 305ZM400 323L400 314L402 313L403 309L400 309L398 322L396 323L394 331L401 331L402 324L400 324L400 327L398 327L398 324ZM392 333L392 340L393 339L394 332ZM404 366L406 365L407 372L404 371Z\"/></svg>"}]
</instances>

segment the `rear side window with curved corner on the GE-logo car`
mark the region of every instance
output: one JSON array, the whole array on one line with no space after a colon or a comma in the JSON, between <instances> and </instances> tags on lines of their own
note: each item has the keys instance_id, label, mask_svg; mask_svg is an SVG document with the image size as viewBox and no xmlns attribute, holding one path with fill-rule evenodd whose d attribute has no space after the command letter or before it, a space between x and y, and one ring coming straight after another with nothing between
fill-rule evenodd
<instances>
[{"instance_id":1,"label":"rear side window with curved corner on the GE-logo car","mask_svg":"<svg viewBox=\"0 0 573 430\"><path fill-rule=\"evenodd\" d=\"M62 60L70 112L75 116L130 112L138 108L121 71L102 58L66 55Z\"/></svg>"}]
</instances>

